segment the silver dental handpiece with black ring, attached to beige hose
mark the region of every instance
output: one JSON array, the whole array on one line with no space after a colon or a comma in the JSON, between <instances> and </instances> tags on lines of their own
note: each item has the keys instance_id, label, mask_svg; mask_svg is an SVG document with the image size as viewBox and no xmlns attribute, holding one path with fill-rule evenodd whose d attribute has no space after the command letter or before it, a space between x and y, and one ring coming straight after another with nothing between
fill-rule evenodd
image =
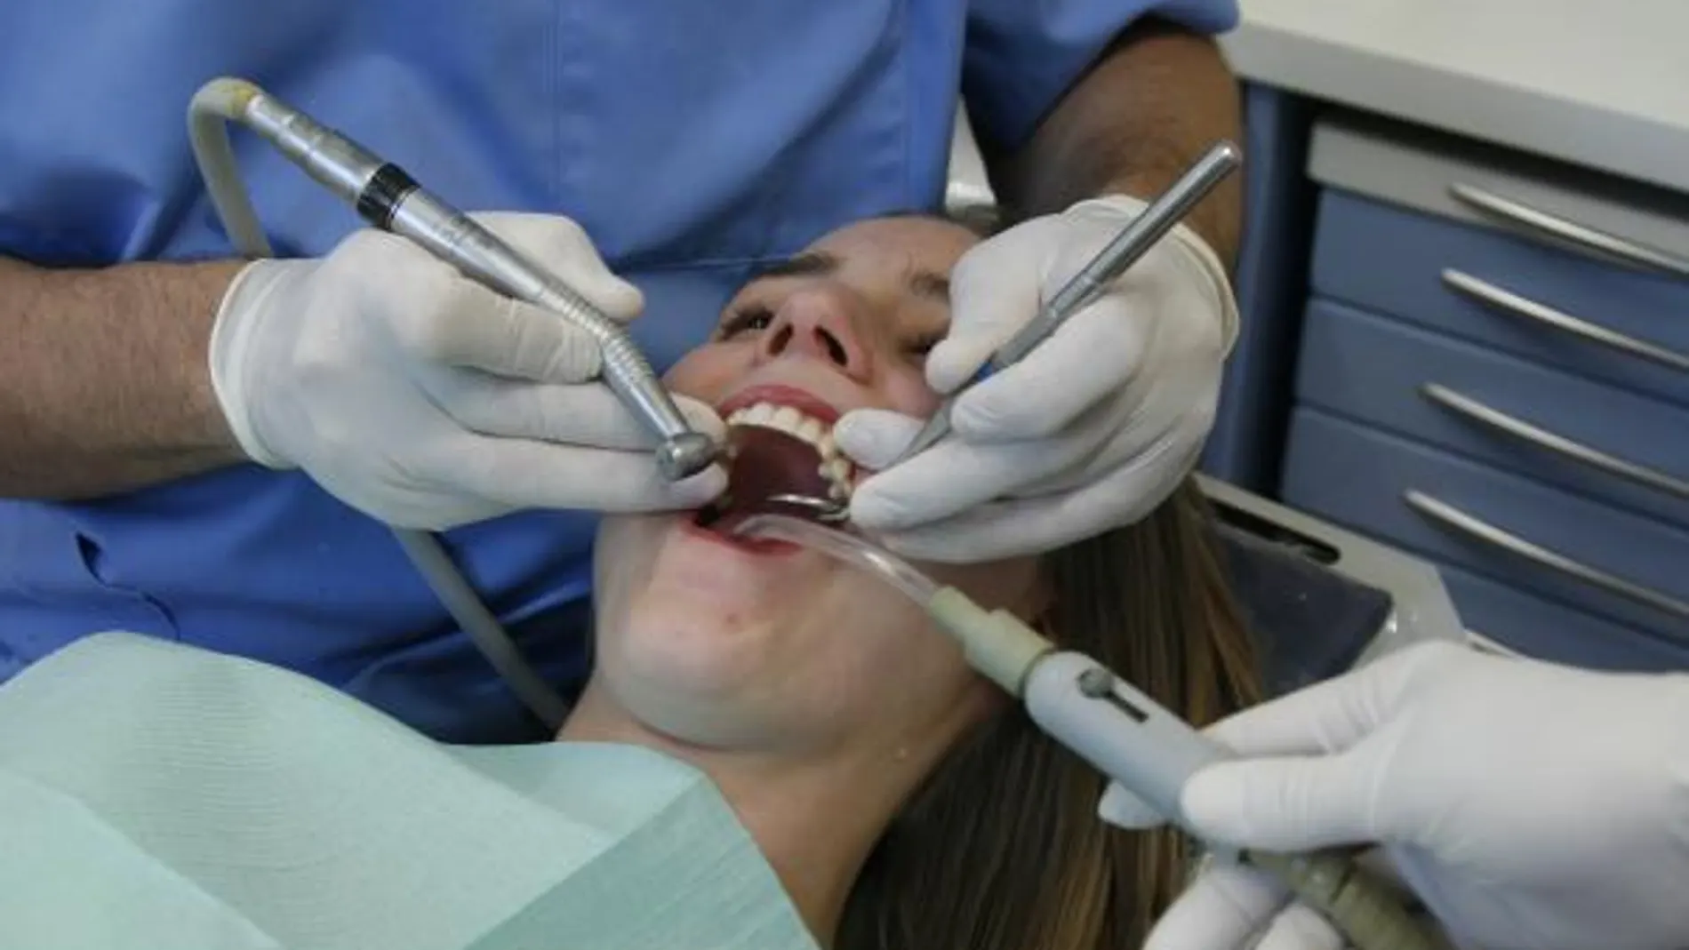
<instances>
[{"instance_id":1,"label":"silver dental handpiece with black ring, attached to beige hose","mask_svg":"<svg viewBox=\"0 0 1689 950\"><path fill-rule=\"evenodd\" d=\"M660 439L657 469L664 478L679 481L698 474L718 457L720 447L692 430L620 324L542 265L426 191L404 169L258 86L225 78L206 83L193 101L189 132L201 174L206 172L208 148L228 150L226 132L215 125L216 120L238 121L257 132L318 184L355 206L358 216L375 228L409 238L466 277L546 307L593 334L603 353L605 383ZM257 229L247 194L204 177L218 214Z\"/></svg>"}]
</instances>

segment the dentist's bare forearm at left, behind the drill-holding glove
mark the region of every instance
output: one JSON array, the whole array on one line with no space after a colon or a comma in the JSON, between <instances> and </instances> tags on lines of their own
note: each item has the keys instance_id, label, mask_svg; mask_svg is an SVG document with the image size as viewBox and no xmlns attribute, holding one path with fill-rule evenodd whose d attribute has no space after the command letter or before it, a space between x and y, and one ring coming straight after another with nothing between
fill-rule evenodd
<instances>
[{"instance_id":1,"label":"dentist's bare forearm at left, behind the drill-holding glove","mask_svg":"<svg viewBox=\"0 0 1689 950\"><path fill-rule=\"evenodd\" d=\"M206 346L240 263L0 258L0 498L98 498L236 461Z\"/></svg>"}]
</instances>

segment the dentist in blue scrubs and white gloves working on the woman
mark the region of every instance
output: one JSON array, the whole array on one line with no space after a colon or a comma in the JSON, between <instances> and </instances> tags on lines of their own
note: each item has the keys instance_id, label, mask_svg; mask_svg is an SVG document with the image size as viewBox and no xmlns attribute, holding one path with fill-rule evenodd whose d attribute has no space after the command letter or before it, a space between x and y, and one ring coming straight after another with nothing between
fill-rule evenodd
<instances>
[{"instance_id":1,"label":"dentist in blue scrubs and white gloves working on the woman","mask_svg":"<svg viewBox=\"0 0 1689 950\"><path fill-rule=\"evenodd\" d=\"M292 668L448 741L542 736L395 547L429 528L527 656L584 677L601 511L664 484L588 341L353 213L250 133L236 260L184 116L255 81L402 164L665 370L755 268L941 206L958 94L1022 223L958 270L956 386L1221 137L1233 0L61 0L0 5L0 682L103 629ZM1098 196L1106 196L1096 199ZM1096 201L1088 201L1096 199ZM954 562L1137 518L1209 430L1236 181L1061 346L975 390L858 521ZM1216 283L1214 270L1221 278ZM704 429L721 422L686 403ZM883 461L914 420L858 413Z\"/></svg>"}]
</instances>

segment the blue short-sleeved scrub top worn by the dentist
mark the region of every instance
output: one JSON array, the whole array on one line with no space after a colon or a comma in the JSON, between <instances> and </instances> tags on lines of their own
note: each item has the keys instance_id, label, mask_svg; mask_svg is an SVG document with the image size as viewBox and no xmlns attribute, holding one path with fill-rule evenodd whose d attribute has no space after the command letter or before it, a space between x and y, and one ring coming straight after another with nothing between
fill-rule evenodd
<instances>
[{"instance_id":1,"label":"blue short-sleeved scrub top worn by the dentist","mask_svg":"<svg viewBox=\"0 0 1689 950\"><path fill-rule=\"evenodd\" d=\"M1230 29L1235 0L57 0L0 3L0 255L230 256L184 116L258 83L459 208L568 214L647 295L659 370L757 262L942 199L958 94L1022 142L1135 17ZM280 256L360 226L250 133ZM591 513L444 540L530 658L586 672ZM0 682L101 629L299 670L446 741L534 737L388 530L240 466L90 503L0 501Z\"/></svg>"}]
</instances>

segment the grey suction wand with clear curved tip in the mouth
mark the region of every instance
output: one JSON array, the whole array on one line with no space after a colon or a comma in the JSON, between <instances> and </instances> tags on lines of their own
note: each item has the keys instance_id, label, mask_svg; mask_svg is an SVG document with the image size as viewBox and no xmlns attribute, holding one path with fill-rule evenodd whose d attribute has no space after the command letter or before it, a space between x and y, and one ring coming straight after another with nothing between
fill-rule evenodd
<instances>
[{"instance_id":1,"label":"grey suction wand with clear curved tip in the mouth","mask_svg":"<svg viewBox=\"0 0 1689 950\"><path fill-rule=\"evenodd\" d=\"M804 545L873 574L921 604L956 640L969 667L1025 705L1051 739L1138 795L1176 827L1198 835L1179 805L1186 781L1231 758L1096 660L1061 650L1007 611L985 611L890 552L839 530L785 515L752 515L735 533ZM1356 950L1446 950L1388 889L1343 852L1241 852L1204 842L1214 859L1246 862L1317 910Z\"/></svg>"}]
</instances>

